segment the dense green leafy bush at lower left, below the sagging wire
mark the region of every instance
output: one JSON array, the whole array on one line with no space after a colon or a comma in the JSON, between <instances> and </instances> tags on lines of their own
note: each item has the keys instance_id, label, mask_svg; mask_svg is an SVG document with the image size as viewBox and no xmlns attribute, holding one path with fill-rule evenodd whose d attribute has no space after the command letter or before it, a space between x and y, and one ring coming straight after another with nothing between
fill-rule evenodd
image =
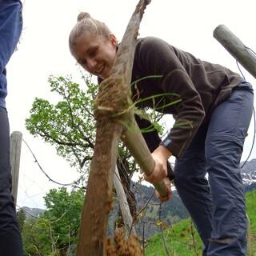
<instances>
[{"instance_id":1,"label":"dense green leafy bush at lower left, below the sagging wire","mask_svg":"<svg viewBox=\"0 0 256 256\"><path fill-rule=\"evenodd\" d=\"M66 187L50 190L44 197L46 211L40 218L24 222L22 240L25 255L65 256L77 242L84 191Z\"/></svg>"}]
</instances>

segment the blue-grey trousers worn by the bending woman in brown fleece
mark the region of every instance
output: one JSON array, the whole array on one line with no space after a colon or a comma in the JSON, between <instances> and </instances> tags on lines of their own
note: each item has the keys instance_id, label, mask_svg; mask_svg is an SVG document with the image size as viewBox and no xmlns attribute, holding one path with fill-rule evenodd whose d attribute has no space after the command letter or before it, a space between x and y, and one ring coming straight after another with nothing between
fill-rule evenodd
<instances>
[{"instance_id":1,"label":"blue-grey trousers worn by the bending woman in brown fleece","mask_svg":"<svg viewBox=\"0 0 256 256\"><path fill-rule=\"evenodd\" d=\"M202 239L203 255L246 255L240 159L253 99L251 85L241 82L175 163L175 186Z\"/></svg>"}]
</instances>

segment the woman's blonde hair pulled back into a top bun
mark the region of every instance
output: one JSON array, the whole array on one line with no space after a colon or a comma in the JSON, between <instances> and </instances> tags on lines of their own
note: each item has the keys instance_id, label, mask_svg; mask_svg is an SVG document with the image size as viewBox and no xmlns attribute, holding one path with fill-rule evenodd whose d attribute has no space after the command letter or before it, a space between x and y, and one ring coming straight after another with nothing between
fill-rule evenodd
<instances>
[{"instance_id":1,"label":"woman's blonde hair pulled back into a top bun","mask_svg":"<svg viewBox=\"0 0 256 256\"><path fill-rule=\"evenodd\" d=\"M111 34L110 29L105 23L99 22L98 20L92 18L90 14L86 12L82 12L78 14L77 23L70 32L70 50L72 49L72 46L75 45L77 38L85 32L89 32L104 38L109 38L109 35Z\"/></svg>"}]
</instances>

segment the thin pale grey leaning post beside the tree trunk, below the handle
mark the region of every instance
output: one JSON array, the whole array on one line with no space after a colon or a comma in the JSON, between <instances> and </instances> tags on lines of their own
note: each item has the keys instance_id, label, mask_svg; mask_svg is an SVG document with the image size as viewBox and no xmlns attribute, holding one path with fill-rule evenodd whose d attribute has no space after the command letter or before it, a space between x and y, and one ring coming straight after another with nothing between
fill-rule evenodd
<instances>
[{"instance_id":1,"label":"thin pale grey leaning post beside the tree trunk, below the handle","mask_svg":"<svg viewBox=\"0 0 256 256\"><path fill-rule=\"evenodd\" d=\"M123 186L122 186L122 182L120 179L120 175L119 175L117 166L115 166L114 187L118 194L118 202L119 202L119 205L121 208L122 219L125 224L126 234L128 236L130 234L130 229L131 229L131 234L136 235L136 231L135 231L134 227L132 227L133 218L131 217L131 214L130 214L130 208L128 206L125 191L123 190Z\"/></svg>"}]
</instances>

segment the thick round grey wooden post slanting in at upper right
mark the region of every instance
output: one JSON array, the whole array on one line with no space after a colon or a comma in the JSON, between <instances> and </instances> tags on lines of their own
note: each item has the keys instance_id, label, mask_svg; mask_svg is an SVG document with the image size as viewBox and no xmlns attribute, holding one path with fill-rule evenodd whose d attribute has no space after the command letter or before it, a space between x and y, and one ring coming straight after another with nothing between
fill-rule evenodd
<instances>
[{"instance_id":1,"label":"thick round grey wooden post slanting in at upper right","mask_svg":"<svg viewBox=\"0 0 256 256\"><path fill-rule=\"evenodd\" d=\"M216 38L218 42L254 76L254 78L256 78L255 54L253 54L237 36L226 28L226 26L219 25L214 30L214 38Z\"/></svg>"}]
</instances>

